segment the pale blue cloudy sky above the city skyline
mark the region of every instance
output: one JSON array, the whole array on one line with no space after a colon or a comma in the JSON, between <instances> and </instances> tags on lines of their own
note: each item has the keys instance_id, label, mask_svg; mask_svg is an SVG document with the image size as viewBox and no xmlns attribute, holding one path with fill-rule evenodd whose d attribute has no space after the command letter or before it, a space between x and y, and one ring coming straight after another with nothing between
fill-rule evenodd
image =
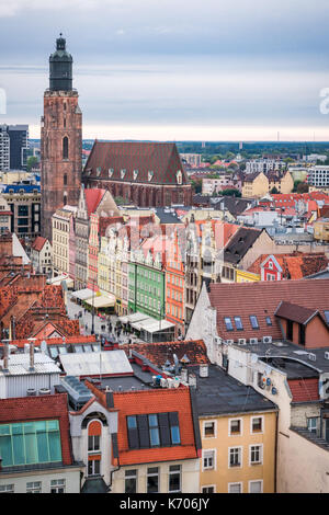
<instances>
[{"instance_id":1,"label":"pale blue cloudy sky above the city skyline","mask_svg":"<svg viewBox=\"0 0 329 515\"><path fill-rule=\"evenodd\" d=\"M63 32L84 138L329 140L328 20L328 0L0 0L0 124L39 137Z\"/></svg>"}]
</instances>

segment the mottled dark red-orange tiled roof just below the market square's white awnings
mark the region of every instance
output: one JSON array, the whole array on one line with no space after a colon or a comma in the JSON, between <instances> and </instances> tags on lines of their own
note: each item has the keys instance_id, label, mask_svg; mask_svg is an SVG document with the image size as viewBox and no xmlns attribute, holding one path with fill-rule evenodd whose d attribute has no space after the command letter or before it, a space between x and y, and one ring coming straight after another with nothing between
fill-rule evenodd
<instances>
[{"instance_id":1,"label":"mottled dark red-orange tiled roof just below the market square's white awnings","mask_svg":"<svg viewBox=\"0 0 329 515\"><path fill-rule=\"evenodd\" d=\"M126 353L128 353L128 350L136 351L158 367L164 365L167 359L173 363L173 354L177 355L178 359L182 359L186 355L190 359L189 365L209 363L206 345L203 340L134 343L132 345L123 345L121 348L124 348Z\"/></svg>"}]
</instances>

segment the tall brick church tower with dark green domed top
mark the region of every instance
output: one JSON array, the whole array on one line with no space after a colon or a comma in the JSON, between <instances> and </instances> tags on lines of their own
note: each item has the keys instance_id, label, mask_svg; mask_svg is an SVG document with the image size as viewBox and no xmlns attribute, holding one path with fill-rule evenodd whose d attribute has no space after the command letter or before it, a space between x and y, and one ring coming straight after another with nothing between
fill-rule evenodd
<instances>
[{"instance_id":1,"label":"tall brick church tower with dark green domed top","mask_svg":"<svg viewBox=\"0 0 329 515\"><path fill-rule=\"evenodd\" d=\"M41 128L42 236L52 241L56 209L78 205L82 168L82 113L72 89L72 56L66 39L56 41L49 57L49 89L44 94Z\"/></svg>"}]
</instances>

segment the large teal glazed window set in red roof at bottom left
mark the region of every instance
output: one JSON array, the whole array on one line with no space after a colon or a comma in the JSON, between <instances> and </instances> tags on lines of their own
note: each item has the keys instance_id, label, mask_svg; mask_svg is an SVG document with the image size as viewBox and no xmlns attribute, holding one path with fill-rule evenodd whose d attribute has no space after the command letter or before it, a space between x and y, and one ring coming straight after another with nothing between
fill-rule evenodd
<instances>
[{"instance_id":1,"label":"large teal glazed window set in red roof at bottom left","mask_svg":"<svg viewBox=\"0 0 329 515\"><path fill-rule=\"evenodd\" d=\"M2 467L61 461L57 420L0 424Z\"/></svg>"}]
</instances>

